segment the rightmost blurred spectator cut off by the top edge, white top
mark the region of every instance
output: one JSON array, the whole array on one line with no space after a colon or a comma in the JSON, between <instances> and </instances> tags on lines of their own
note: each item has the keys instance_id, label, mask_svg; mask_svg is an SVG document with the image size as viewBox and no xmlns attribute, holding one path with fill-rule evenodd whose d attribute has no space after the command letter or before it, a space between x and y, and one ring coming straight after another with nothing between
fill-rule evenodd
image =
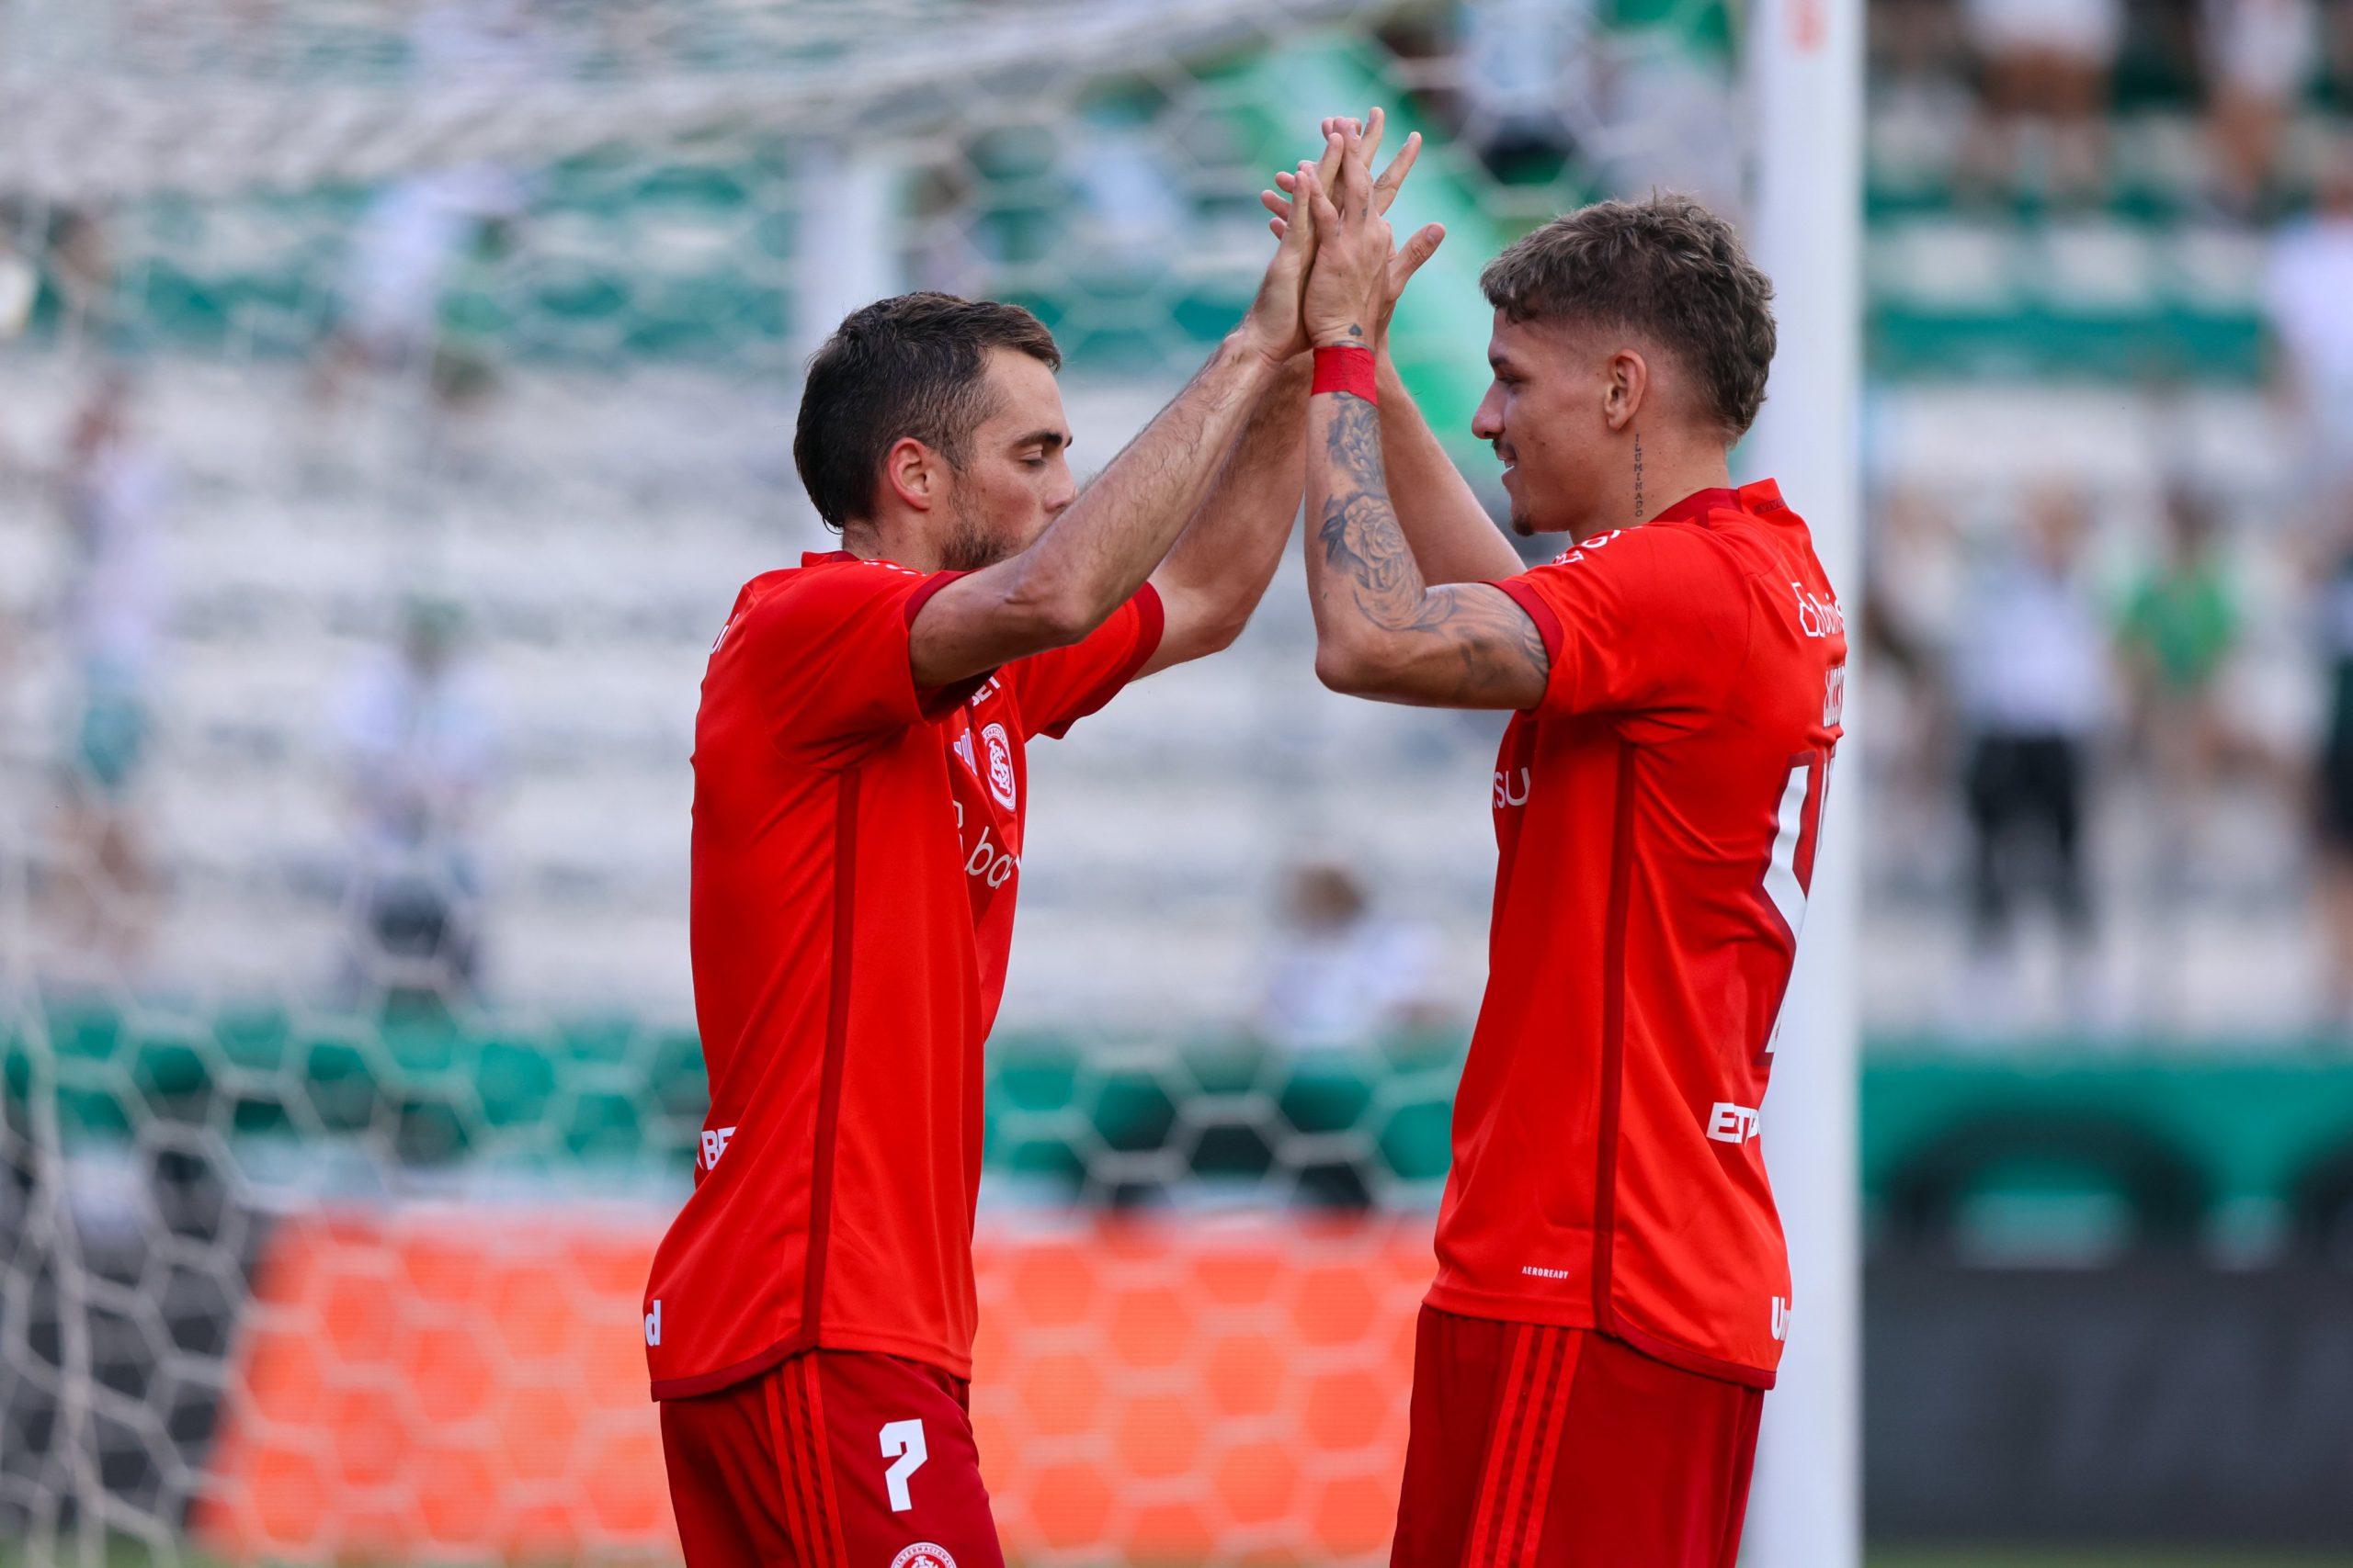
<instances>
[{"instance_id":1,"label":"rightmost blurred spectator cut off by the top edge, white top","mask_svg":"<svg viewBox=\"0 0 2353 1568\"><path fill-rule=\"evenodd\" d=\"M2280 134L2320 68L2315 0L2205 0L2217 197L2257 216L2280 162Z\"/></svg>"}]
</instances>

